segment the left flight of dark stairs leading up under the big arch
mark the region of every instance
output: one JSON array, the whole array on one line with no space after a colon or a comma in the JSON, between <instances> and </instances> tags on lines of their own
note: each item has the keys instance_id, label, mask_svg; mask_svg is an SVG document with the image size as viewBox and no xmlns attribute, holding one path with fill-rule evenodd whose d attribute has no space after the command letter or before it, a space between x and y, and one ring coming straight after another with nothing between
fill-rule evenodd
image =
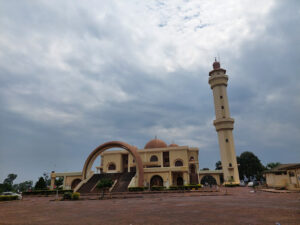
<instances>
[{"instance_id":1,"label":"left flight of dark stairs leading up under the big arch","mask_svg":"<svg viewBox=\"0 0 300 225\"><path fill-rule=\"evenodd\" d=\"M121 173L101 173L101 174L94 174L85 184L83 184L78 192L79 193L91 193L91 192L98 192L97 188L95 188L96 184L99 180L103 178L109 178L111 180L117 180L121 176Z\"/></svg>"}]
</instances>

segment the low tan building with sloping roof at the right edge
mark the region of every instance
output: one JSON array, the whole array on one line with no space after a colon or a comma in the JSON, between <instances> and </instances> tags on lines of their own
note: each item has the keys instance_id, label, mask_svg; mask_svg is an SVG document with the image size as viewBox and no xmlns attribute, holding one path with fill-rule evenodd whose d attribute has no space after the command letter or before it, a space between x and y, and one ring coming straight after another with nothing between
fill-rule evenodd
<instances>
[{"instance_id":1,"label":"low tan building with sloping roof at the right edge","mask_svg":"<svg viewBox=\"0 0 300 225\"><path fill-rule=\"evenodd\" d=\"M264 174L268 187L300 189L300 163L281 164Z\"/></svg>"}]
</instances>

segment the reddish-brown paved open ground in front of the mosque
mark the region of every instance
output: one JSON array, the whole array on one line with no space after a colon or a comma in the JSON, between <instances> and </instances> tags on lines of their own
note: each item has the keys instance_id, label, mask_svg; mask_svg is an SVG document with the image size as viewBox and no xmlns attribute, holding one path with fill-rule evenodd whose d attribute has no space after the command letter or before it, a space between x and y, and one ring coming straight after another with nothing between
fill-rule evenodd
<instances>
[{"instance_id":1,"label":"reddish-brown paved open ground in front of the mosque","mask_svg":"<svg viewBox=\"0 0 300 225\"><path fill-rule=\"evenodd\" d=\"M172 193L143 198L0 203L0 224L273 224L300 225L300 193Z\"/></svg>"}]
</instances>

